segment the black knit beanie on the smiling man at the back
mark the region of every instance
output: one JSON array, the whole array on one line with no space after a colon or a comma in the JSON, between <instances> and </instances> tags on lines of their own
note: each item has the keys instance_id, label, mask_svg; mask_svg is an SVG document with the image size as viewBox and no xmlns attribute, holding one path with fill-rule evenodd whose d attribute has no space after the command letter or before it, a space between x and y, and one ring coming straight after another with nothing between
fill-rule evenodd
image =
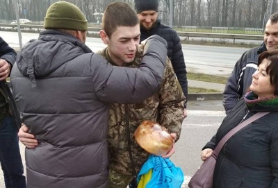
<instances>
[{"instance_id":1,"label":"black knit beanie on the smiling man at the back","mask_svg":"<svg viewBox=\"0 0 278 188\"><path fill-rule=\"evenodd\" d=\"M145 10L156 10L158 12L158 0L134 0L134 9L136 13Z\"/></svg>"}]
</instances>

